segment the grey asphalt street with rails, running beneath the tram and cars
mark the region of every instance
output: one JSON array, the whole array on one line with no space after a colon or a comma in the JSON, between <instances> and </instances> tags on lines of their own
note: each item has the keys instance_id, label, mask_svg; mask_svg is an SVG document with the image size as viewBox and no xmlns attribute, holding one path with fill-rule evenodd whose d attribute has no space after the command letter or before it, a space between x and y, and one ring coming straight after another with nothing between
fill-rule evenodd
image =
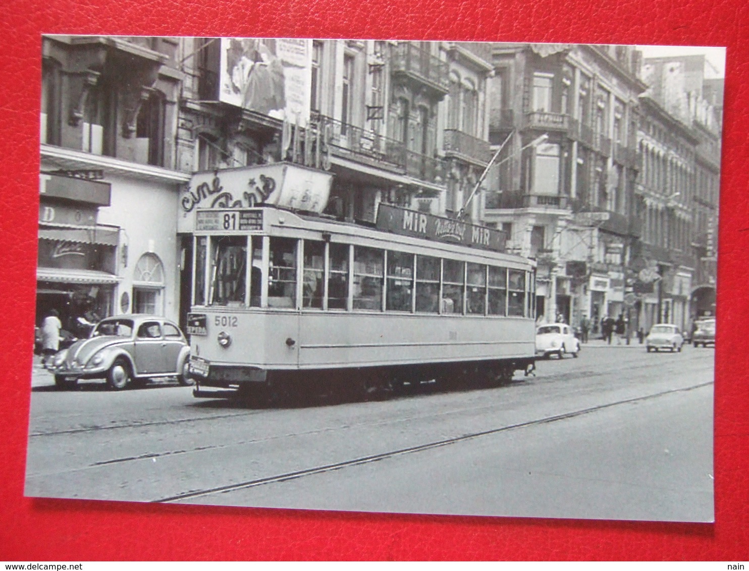
<instances>
[{"instance_id":1,"label":"grey asphalt street with rails, running beneath the tram and cars","mask_svg":"<svg viewBox=\"0 0 749 571\"><path fill-rule=\"evenodd\" d=\"M25 493L709 522L714 355L589 346L495 388L256 409L36 368Z\"/></svg>"}]
</instances>

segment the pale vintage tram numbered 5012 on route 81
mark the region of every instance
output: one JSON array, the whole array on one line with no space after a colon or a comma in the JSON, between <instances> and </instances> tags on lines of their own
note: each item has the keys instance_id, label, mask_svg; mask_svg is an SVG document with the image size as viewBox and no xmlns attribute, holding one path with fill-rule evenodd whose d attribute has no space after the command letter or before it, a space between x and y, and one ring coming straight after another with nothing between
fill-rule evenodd
<instances>
[{"instance_id":1,"label":"pale vintage tram numbered 5012 on route 81","mask_svg":"<svg viewBox=\"0 0 749 571\"><path fill-rule=\"evenodd\" d=\"M377 225L274 206L192 230L195 396L331 383L363 397L533 369L535 262L503 233L380 204Z\"/></svg>"}]
</instances>

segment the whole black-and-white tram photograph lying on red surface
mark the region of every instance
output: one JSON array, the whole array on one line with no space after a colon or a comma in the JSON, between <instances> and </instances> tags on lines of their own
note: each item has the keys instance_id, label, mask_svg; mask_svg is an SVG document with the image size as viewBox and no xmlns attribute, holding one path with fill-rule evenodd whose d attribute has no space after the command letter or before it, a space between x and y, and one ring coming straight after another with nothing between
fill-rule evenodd
<instances>
[{"instance_id":1,"label":"whole black-and-white tram photograph lying on red surface","mask_svg":"<svg viewBox=\"0 0 749 571\"><path fill-rule=\"evenodd\" d=\"M715 520L724 48L41 48L26 496Z\"/></svg>"}]
</instances>

